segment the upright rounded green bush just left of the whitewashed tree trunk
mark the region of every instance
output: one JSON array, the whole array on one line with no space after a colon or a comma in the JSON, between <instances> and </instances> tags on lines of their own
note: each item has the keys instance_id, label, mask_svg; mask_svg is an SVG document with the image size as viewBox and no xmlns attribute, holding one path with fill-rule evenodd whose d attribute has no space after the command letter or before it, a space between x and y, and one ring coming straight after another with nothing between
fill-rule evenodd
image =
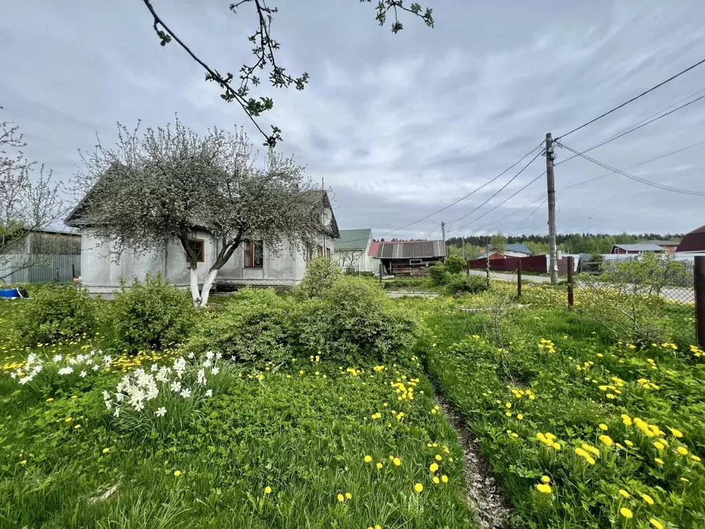
<instances>
[{"instance_id":1,"label":"upright rounded green bush just left of the whitewashed tree trunk","mask_svg":"<svg viewBox=\"0 0 705 529\"><path fill-rule=\"evenodd\" d=\"M147 274L143 283L135 278L129 289L123 284L111 311L117 338L130 351L183 341L195 316L188 293L162 281L161 274L154 279Z\"/></svg>"}]
</instances>

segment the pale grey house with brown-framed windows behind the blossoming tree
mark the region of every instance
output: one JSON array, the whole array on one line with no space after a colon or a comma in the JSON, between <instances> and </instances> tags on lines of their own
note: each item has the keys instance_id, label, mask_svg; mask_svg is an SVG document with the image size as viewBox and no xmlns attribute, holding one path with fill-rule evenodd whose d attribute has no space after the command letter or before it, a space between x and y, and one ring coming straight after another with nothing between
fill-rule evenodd
<instances>
[{"instance_id":1,"label":"pale grey house with brown-framed windows behind the blossoming tree","mask_svg":"<svg viewBox=\"0 0 705 529\"><path fill-rule=\"evenodd\" d=\"M85 200L85 198L84 198ZM316 248L309 248L306 253L299 248L283 242L278 252L267 248L252 234L250 241L245 241L235 250L226 262L215 281L215 288L237 286L293 286L301 281L306 262L315 256L332 255L333 239L339 236L336 217L331 211L331 202L324 191L307 193L306 200L322 200L328 210L324 215L328 224L321 226L321 236ZM154 248L146 255L135 255L127 251L115 262L111 255L111 241L99 238L90 219L83 216L83 201L73 209L66 219L66 224L81 231L81 269L82 284L91 294L111 294L118 290L121 281L130 284L135 277L144 278L149 272L152 276L161 272L164 279L180 287L190 284L186 255L178 241L170 241ZM199 255L198 281L203 283L209 267L214 263L218 241L206 229L195 228L192 248Z\"/></svg>"}]
</instances>

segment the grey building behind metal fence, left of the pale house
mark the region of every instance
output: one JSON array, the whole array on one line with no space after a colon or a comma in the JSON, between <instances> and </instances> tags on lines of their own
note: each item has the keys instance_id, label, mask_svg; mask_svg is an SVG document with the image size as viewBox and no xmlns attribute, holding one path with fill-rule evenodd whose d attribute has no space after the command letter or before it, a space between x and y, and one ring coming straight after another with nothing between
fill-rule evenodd
<instances>
[{"instance_id":1,"label":"grey building behind metal fence, left of the pale house","mask_svg":"<svg viewBox=\"0 0 705 529\"><path fill-rule=\"evenodd\" d=\"M81 273L78 231L35 229L0 255L0 277L11 283L70 283Z\"/></svg>"}]
</instances>

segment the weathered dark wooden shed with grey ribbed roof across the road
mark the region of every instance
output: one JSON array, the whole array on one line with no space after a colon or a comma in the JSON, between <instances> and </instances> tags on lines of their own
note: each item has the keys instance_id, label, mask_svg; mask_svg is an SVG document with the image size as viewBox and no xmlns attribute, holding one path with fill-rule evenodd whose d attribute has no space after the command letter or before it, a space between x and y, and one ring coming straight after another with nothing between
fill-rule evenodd
<instances>
[{"instance_id":1,"label":"weathered dark wooden shed with grey ribbed roof across the road","mask_svg":"<svg viewBox=\"0 0 705 529\"><path fill-rule=\"evenodd\" d=\"M446 260L443 241L393 241L380 242L376 259L384 273L395 276L424 276L436 262Z\"/></svg>"}]
</instances>

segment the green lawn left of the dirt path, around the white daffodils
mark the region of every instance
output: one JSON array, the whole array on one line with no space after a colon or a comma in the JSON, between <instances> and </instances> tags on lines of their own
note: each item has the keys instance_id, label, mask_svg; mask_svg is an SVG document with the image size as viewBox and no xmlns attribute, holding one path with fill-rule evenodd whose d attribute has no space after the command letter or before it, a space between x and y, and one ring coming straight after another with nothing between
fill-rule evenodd
<instances>
[{"instance_id":1,"label":"green lawn left of the dirt path, around the white daffodils","mask_svg":"<svg viewBox=\"0 0 705 529\"><path fill-rule=\"evenodd\" d=\"M0 525L474 527L458 437L417 360L377 370L220 360L209 399L185 406L167 388L140 413L107 410L104 389L172 356L123 357L68 381L45 367L24 386L3 375Z\"/></svg>"}]
</instances>

